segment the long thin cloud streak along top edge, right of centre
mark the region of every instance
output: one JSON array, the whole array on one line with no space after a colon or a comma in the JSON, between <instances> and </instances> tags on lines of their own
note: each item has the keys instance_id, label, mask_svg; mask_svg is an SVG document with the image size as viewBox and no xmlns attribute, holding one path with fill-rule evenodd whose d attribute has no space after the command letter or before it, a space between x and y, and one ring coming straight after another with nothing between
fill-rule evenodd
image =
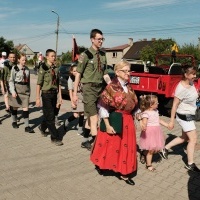
<instances>
[{"instance_id":1,"label":"long thin cloud streak along top edge, right of centre","mask_svg":"<svg viewBox=\"0 0 200 200\"><path fill-rule=\"evenodd\" d=\"M104 6L107 9L113 10L125 10L125 9L136 9L136 8L144 8L144 7L157 7L157 6L165 6L172 5L179 2L179 0L126 0L119 1L113 3L105 3Z\"/></svg>"}]
</instances>

